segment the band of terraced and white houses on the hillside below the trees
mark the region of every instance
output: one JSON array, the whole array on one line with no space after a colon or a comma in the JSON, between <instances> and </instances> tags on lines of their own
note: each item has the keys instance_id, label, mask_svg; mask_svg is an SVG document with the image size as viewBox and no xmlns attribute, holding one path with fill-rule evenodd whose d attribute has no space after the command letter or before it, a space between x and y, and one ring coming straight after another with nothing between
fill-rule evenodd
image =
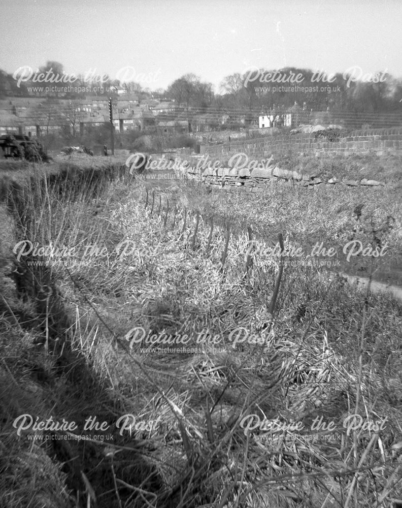
<instances>
[{"instance_id":1,"label":"band of terraced and white houses on the hillside below the trees","mask_svg":"<svg viewBox=\"0 0 402 508\"><path fill-rule=\"evenodd\" d=\"M136 131L157 136L190 135L200 143L230 141L246 136L272 135L300 124L329 123L328 111L308 110L306 103L289 108L274 107L253 113L202 112L179 107L175 100L142 99L132 95L112 100L116 133ZM0 99L0 135L32 138L49 135L83 136L92 128L109 125L107 97L84 99L7 97Z\"/></svg>"}]
</instances>

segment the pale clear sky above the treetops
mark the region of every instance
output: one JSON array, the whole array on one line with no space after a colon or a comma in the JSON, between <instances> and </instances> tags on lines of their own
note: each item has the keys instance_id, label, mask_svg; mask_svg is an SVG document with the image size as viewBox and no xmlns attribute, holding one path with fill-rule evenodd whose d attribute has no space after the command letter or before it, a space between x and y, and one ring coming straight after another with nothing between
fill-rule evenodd
<instances>
[{"instance_id":1,"label":"pale clear sky above the treetops","mask_svg":"<svg viewBox=\"0 0 402 508\"><path fill-rule=\"evenodd\" d=\"M152 90L186 73L215 85L252 66L402 77L402 0L0 0L0 69L112 79Z\"/></svg>"}]
</instances>

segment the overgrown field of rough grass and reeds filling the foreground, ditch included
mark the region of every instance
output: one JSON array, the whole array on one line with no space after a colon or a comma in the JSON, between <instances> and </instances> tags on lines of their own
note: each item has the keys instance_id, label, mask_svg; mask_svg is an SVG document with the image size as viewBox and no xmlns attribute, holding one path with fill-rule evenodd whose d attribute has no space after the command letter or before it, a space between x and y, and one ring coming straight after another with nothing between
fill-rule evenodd
<instances>
[{"instance_id":1,"label":"overgrown field of rough grass and reeds filling the foreground, ditch included","mask_svg":"<svg viewBox=\"0 0 402 508\"><path fill-rule=\"evenodd\" d=\"M401 303L332 273L397 260L397 189L77 185L0 209L1 506L402 499Z\"/></svg>"}]
</instances>

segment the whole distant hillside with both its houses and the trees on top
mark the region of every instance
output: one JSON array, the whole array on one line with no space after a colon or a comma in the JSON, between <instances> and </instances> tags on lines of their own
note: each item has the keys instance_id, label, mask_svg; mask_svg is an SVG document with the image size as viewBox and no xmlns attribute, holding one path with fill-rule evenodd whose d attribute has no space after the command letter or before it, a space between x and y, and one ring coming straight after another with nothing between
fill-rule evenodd
<instances>
[{"instance_id":1,"label":"whole distant hillside with both its houses and the trees on top","mask_svg":"<svg viewBox=\"0 0 402 508\"><path fill-rule=\"evenodd\" d=\"M69 77L55 61L48 61L38 72L51 79ZM284 82L302 74L306 83L315 79L308 69L285 68L268 75ZM321 78L325 82L326 77ZM402 84L398 80L388 74L381 78L383 82L347 78L335 75L331 87L261 87L250 75L235 73L214 91L211 83L186 74L164 90L151 91L139 83L110 79L96 87L96 81L88 82L85 77L75 77L74 84L80 85L75 87L32 86L38 85L35 75L27 80L18 73L0 71L0 136L40 138L51 148L59 147L62 140L106 144L112 120L120 147L133 148L133 141L144 135L158 139L185 136L194 146L288 132L312 133L331 126L353 130L402 124L398 101Z\"/></svg>"}]
</instances>

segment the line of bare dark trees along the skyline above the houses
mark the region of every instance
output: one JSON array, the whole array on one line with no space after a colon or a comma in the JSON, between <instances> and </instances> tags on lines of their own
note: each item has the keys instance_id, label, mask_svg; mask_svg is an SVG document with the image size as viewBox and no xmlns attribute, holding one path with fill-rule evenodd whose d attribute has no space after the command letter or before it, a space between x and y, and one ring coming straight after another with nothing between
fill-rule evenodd
<instances>
[{"instance_id":1,"label":"line of bare dark trees along the skyline above the houses","mask_svg":"<svg viewBox=\"0 0 402 508\"><path fill-rule=\"evenodd\" d=\"M53 75L61 76L64 73L63 66L56 61L48 61L39 72L46 73L50 70ZM297 104L300 108L314 111L402 113L402 79L396 79L386 72L372 76L358 74L356 69L346 75L328 75L324 72L317 75L317 72L310 69L294 67L281 70L253 69L243 74L226 76L220 83L219 90L214 90L212 83L204 82L194 74L185 74L166 89L158 88L154 91L143 88L140 83L106 79L102 83L104 93L98 90L99 82L91 82L78 75L74 84L85 85L87 90L68 92L63 98L79 99L88 94L108 97L113 96L115 87L123 87L127 93L136 94L139 101L151 97L168 99L175 101L176 106L186 112L253 112L255 117L256 112L284 111ZM28 97L28 87L34 84L45 90L48 83L18 83L12 74L0 70L0 98ZM91 93L91 89L96 91ZM54 96L57 97L57 92Z\"/></svg>"}]
</instances>

